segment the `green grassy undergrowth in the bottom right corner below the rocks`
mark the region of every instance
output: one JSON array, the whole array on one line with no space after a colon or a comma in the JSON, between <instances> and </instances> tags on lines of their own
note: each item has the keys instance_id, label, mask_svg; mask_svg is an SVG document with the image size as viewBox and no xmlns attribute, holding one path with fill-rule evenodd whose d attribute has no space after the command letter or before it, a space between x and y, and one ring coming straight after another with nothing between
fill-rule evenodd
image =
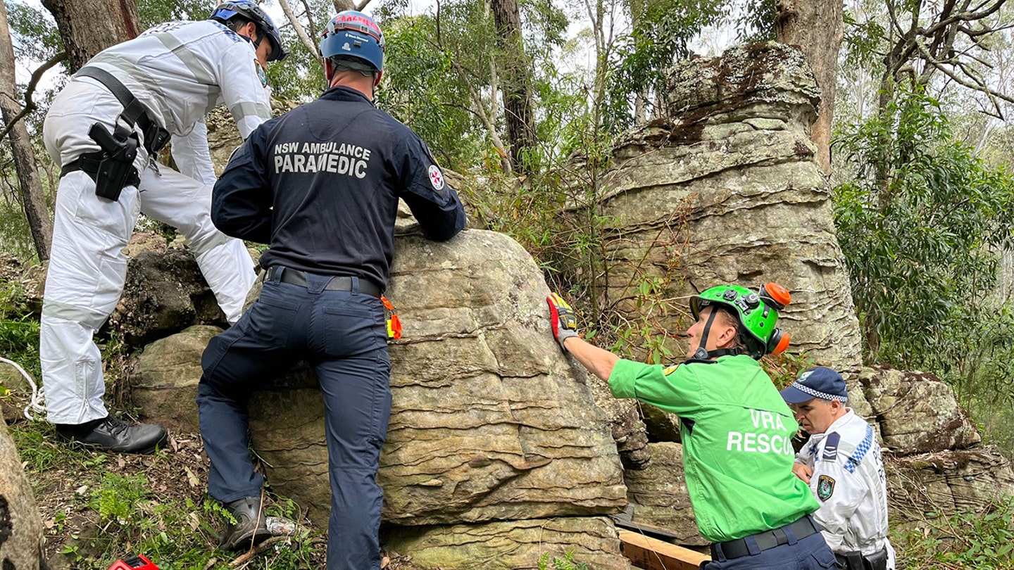
<instances>
[{"instance_id":1,"label":"green grassy undergrowth in the bottom right corner below the rocks","mask_svg":"<svg viewBox=\"0 0 1014 570\"><path fill-rule=\"evenodd\" d=\"M983 511L946 516L931 514L891 542L898 570L1014 567L1014 498L988 505Z\"/></svg>"}]
</instances>

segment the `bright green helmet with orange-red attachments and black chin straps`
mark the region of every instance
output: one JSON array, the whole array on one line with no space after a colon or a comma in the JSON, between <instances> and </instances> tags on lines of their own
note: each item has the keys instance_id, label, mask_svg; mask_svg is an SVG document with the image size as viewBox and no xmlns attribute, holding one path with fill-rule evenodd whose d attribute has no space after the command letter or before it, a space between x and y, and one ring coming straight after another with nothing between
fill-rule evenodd
<instances>
[{"instance_id":1,"label":"bright green helmet with orange-red attachments and black chin straps","mask_svg":"<svg viewBox=\"0 0 1014 570\"><path fill-rule=\"evenodd\" d=\"M789 291L778 283L767 283L756 293L739 285L719 285L691 297L691 313L694 318L699 318L701 311L709 305L719 305L728 310L739 324L739 338L749 355L759 360L766 354L781 354L788 348L789 335L777 329L775 324L778 323L778 311L785 308L790 299ZM712 356L704 348L708 329L705 328L695 358L704 360Z\"/></svg>"}]
</instances>

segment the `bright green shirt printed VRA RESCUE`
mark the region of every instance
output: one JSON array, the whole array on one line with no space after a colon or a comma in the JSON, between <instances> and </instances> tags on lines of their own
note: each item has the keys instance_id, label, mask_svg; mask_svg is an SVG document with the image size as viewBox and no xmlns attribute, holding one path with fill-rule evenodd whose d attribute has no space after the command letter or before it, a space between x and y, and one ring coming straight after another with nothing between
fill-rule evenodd
<instances>
[{"instance_id":1,"label":"bright green shirt printed VRA RESCUE","mask_svg":"<svg viewBox=\"0 0 1014 570\"><path fill-rule=\"evenodd\" d=\"M669 367L620 360L609 388L679 416L686 489L705 539L741 539L819 507L792 474L799 426L749 356Z\"/></svg>"}]
</instances>

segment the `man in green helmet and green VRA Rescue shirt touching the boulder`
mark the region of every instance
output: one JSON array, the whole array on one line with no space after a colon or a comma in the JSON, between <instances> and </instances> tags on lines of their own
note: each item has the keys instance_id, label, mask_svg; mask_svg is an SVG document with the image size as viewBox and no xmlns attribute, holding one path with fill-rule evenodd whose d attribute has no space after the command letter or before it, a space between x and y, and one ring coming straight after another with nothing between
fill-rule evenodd
<instances>
[{"instance_id":1,"label":"man in green helmet and green VRA Rescue shirt touching the boulder","mask_svg":"<svg viewBox=\"0 0 1014 570\"><path fill-rule=\"evenodd\" d=\"M759 294L736 285L691 299L687 359L677 366L622 359L577 336L573 310L547 299L551 329L565 352L609 384L679 416L686 489L701 536L711 541L707 570L835 566L809 513L817 502L792 475L796 425L757 360L778 354L788 335L775 328L789 293L775 283Z\"/></svg>"}]
</instances>

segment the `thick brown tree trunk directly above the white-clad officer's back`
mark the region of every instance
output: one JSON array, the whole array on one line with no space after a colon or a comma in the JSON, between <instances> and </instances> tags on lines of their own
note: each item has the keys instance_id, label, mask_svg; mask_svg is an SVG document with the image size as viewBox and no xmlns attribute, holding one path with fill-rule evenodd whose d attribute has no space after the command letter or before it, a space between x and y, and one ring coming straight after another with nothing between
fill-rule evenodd
<instances>
[{"instance_id":1,"label":"thick brown tree trunk directly above the white-clad officer's back","mask_svg":"<svg viewBox=\"0 0 1014 570\"><path fill-rule=\"evenodd\" d=\"M43 0L43 5L57 20L71 73L141 31L134 0Z\"/></svg>"}]
</instances>

